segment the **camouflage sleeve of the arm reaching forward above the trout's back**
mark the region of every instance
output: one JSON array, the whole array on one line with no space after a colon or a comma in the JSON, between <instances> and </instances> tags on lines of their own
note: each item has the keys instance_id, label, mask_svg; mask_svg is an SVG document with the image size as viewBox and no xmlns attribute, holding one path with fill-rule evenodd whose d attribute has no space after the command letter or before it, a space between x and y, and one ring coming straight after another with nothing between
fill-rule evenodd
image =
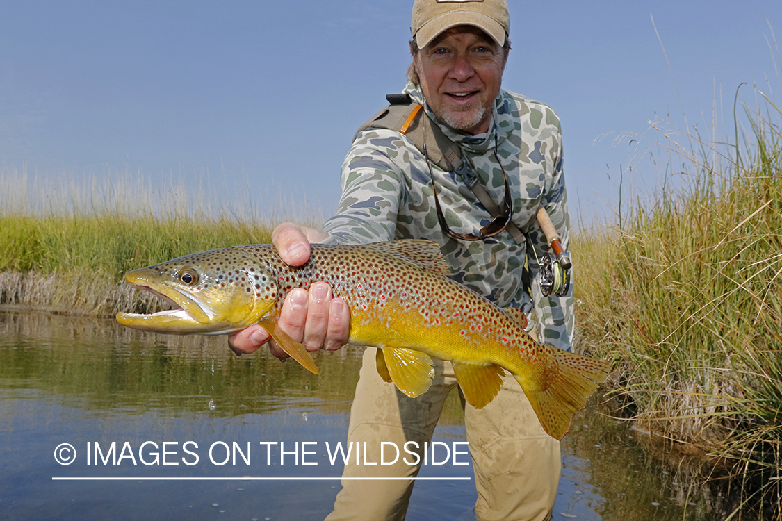
<instances>
[{"instance_id":1,"label":"camouflage sleeve of the arm reaching forward above the trout's back","mask_svg":"<svg viewBox=\"0 0 782 521\"><path fill-rule=\"evenodd\" d=\"M396 141L396 143L395 143ZM404 205L404 173L392 156L400 148L399 134L391 130L364 130L342 166L342 196L335 216L323 230L332 244L391 241L396 214Z\"/></svg>"}]
</instances>

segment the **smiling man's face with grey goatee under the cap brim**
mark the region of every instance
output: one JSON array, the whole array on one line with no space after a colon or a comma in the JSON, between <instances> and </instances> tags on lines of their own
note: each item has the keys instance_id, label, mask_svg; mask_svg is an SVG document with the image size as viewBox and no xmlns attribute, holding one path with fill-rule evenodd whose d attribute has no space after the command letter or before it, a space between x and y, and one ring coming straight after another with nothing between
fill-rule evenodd
<instances>
[{"instance_id":1,"label":"smiling man's face with grey goatee under the cap brim","mask_svg":"<svg viewBox=\"0 0 782 521\"><path fill-rule=\"evenodd\" d=\"M420 49L414 66L440 120L467 134L489 130L505 67L504 49L490 36L475 27L454 27Z\"/></svg>"}]
</instances>

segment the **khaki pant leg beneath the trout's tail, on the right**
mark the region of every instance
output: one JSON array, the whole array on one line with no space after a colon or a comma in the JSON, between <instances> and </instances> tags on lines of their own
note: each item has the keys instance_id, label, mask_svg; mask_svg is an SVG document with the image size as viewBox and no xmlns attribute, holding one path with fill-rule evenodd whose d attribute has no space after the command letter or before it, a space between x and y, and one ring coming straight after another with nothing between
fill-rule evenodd
<instances>
[{"instance_id":1,"label":"khaki pant leg beneath the trout's tail, on the right","mask_svg":"<svg viewBox=\"0 0 782 521\"><path fill-rule=\"evenodd\" d=\"M481 521L550 519L561 471L559 441L543 431L522 388L503 379L483 409L465 405Z\"/></svg>"}]
</instances>

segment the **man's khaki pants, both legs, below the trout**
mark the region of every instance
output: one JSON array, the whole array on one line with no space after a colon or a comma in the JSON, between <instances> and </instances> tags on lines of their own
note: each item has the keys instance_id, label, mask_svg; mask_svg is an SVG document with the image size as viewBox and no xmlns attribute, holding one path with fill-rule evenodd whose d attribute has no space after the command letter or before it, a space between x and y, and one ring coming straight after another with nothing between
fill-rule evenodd
<instances>
[{"instance_id":1,"label":"man's khaki pants, both legs, below the trout","mask_svg":"<svg viewBox=\"0 0 782 521\"><path fill-rule=\"evenodd\" d=\"M345 477L418 475L419 466L404 453L407 441L416 441L423 461L424 442L432 440L447 394L457 387L450 362L433 360L435 376L429 392L407 398L394 384L382 380L375 368L375 348L364 352L364 365L350 409L348 441L362 448L359 464L355 456L345 466ZM478 519L503 521L543 521L550 519L557 495L561 470L559 441L549 437L513 376L505 376L500 393L483 409L465 405L467 441L475 469ZM380 462L382 441L400 448L394 465L364 465ZM408 445L414 447L414 445ZM462 446L464 448L464 446ZM461 450L461 449L460 449ZM466 456L461 456L464 459ZM389 457L386 450L386 461ZM413 480L343 480L334 512L328 521L401 520L413 491Z\"/></svg>"}]
</instances>

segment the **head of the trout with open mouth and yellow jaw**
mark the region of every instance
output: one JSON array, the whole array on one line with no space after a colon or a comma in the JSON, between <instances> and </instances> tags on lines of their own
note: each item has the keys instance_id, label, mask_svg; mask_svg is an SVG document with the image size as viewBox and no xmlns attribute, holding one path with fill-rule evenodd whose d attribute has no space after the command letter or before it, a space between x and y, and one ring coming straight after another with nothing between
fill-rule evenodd
<instances>
[{"instance_id":1,"label":"head of the trout with open mouth and yellow jaw","mask_svg":"<svg viewBox=\"0 0 782 521\"><path fill-rule=\"evenodd\" d=\"M149 315L117 314L123 326L153 333L235 333L274 312L278 298L271 269L242 247L185 255L135 269L125 280L173 305L174 309Z\"/></svg>"}]
</instances>

